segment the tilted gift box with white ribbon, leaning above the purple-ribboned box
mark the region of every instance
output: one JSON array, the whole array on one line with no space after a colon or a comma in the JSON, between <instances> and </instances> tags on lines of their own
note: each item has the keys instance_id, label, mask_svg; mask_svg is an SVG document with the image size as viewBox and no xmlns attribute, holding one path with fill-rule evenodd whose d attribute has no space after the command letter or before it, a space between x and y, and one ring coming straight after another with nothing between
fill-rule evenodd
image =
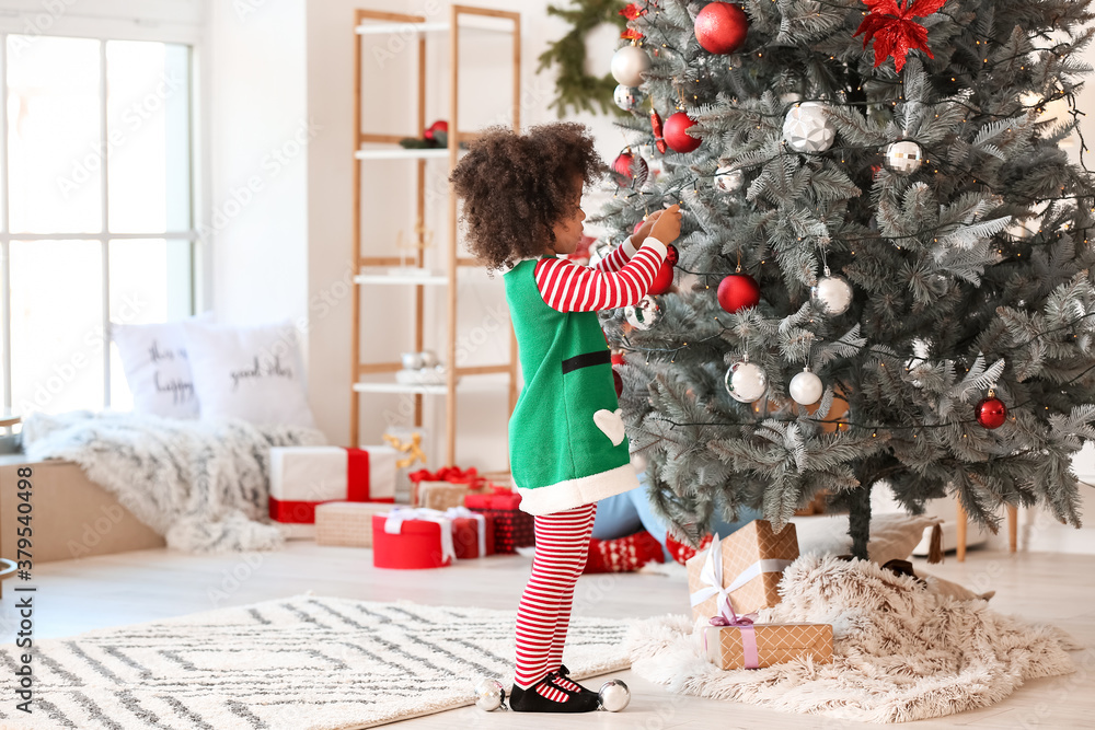
<instances>
[{"instance_id":1,"label":"tilted gift box with white ribbon, leaning above the purple-ribboned box","mask_svg":"<svg viewBox=\"0 0 1095 730\"><path fill-rule=\"evenodd\" d=\"M733 619L780 602L783 569L798 557L794 524L772 532L768 520L753 520L731 535L712 540L685 563L692 617Z\"/></svg>"}]
</instances>

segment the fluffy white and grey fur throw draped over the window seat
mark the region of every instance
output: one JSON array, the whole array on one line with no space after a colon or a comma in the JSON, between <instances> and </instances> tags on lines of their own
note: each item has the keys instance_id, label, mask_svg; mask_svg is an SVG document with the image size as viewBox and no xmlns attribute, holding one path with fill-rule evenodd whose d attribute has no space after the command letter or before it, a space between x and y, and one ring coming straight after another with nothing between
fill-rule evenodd
<instances>
[{"instance_id":1,"label":"fluffy white and grey fur throw draped over the window seat","mask_svg":"<svg viewBox=\"0 0 1095 730\"><path fill-rule=\"evenodd\" d=\"M31 414L22 439L31 461L76 462L169 547L191 553L281 547L266 517L270 447L326 443L309 428L110 410Z\"/></svg>"}]
</instances>

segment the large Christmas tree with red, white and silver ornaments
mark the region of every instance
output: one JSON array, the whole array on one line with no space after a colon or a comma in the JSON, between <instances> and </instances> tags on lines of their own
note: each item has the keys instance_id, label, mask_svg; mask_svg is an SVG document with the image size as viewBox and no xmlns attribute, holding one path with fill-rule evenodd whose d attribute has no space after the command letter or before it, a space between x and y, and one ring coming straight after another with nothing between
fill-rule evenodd
<instances>
[{"instance_id":1,"label":"large Christmas tree with red, white and silver ornaments","mask_svg":"<svg viewBox=\"0 0 1095 730\"><path fill-rule=\"evenodd\" d=\"M652 500L776 528L871 489L1079 526L1095 438L1086 1L660 0L613 58L632 139L595 220L684 213L672 288L607 312ZM1064 149L1074 144L1077 161ZM664 154L662 154L664 152ZM657 163L664 171L650 174Z\"/></svg>"}]
</instances>

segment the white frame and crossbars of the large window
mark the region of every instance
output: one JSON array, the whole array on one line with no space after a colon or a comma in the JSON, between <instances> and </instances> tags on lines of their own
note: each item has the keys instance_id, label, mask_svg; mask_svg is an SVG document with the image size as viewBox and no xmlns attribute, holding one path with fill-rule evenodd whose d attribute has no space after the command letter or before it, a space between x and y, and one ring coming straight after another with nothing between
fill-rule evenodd
<instances>
[{"instance_id":1,"label":"white frame and crossbars of the large window","mask_svg":"<svg viewBox=\"0 0 1095 730\"><path fill-rule=\"evenodd\" d=\"M198 234L196 221L201 220L199 211L208 209L209 165L207 149L203 143L207 139L208 115L206 104L201 103L204 90L209 89L206 65L203 63L203 51L206 42L206 25L201 13L205 3L198 0L170 0L154 3L152 8L141 8L152 11L152 15L128 15L134 7L153 5L153 3L128 2L120 0L0 0L0 100L4 107L0 108L0 176L2 176L3 195L0 196L0 294L4 298L5 316L0 322L0 337L3 345L3 408L12 409L12 355L11 355L11 242L15 241L57 241L73 240L99 241L102 246L103 299L102 321L104 337L110 341L111 326L111 290L110 290L110 241L125 239L163 239L166 241L189 241L191 243L191 311L192 313L208 309L209 256L203 250L203 241ZM173 4L172 4L173 3ZM79 12L78 12L79 11ZM120 11L120 12L119 12ZM107 185L107 167L100 166L101 184L103 186L102 216L103 229L100 233L11 233L8 202L10 196L8 167L8 72L7 47L9 35L31 36L64 36L74 38L91 38L95 40L149 40L159 43L182 44L191 47L189 68L189 130L191 130L191 210L189 229L186 231L166 233L110 233L108 206L110 187ZM100 88L106 89L106 44L100 45ZM106 99L101 100L101 139L102 149L107 149ZM103 348L103 404L111 406L111 348Z\"/></svg>"}]
</instances>

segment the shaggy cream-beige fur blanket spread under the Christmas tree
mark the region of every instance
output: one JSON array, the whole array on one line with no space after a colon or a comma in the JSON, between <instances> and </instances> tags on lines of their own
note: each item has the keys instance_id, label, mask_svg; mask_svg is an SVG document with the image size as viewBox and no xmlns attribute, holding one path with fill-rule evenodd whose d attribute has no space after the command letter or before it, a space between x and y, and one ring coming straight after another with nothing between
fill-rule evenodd
<instances>
[{"instance_id":1,"label":"shaggy cream-beige fur blanket spread under the Christmas tree","mask_svg":"<svg viewBox=\"0 0 1095 730\"><path fill-rule=\"evenodd\" d=\"M1072 639L1004 616L983 600L932 593L865 560L804 555L784 572L783 601L757 623L833 627L833 661L756 670L710 663L688 616L641 622L632 670L671 692L860 722L906 722L998 703L1024 681L1074 671Z\"/></svg>"}]
</instances>

